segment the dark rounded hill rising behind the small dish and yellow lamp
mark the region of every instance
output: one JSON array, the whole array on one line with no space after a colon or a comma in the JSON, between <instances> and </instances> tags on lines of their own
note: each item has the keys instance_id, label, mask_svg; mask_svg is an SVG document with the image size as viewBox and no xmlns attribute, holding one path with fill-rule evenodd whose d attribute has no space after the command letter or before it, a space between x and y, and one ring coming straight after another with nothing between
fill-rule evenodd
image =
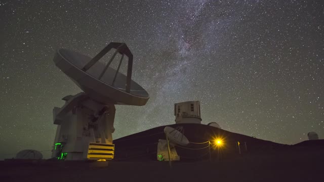
<instances>
[{"instance_id":1,"label":"dark rounded hill rising behind the small dish and yellow lamp","mask_svg":"<svg viewBox=\"0 0 324 182\"><path fill-rule=\"evenodd\" d=\"M209 158L209 143L207 141L211 141L213 145L216 138L222 139L223 146L220 150L216 150L217 148L214 146L211 147L212 158L217 158L218 153L221 153L220 155L223 158L238 154L237 142L240 143L241 153L259 153L267 150L284 150L289 148L289 145L256 139L252 136L233 133L204 124L185 123L168 126L174 128L182 126L184 135L191 142L185 148L176 146L181 161L196 161ZM159 126L114 140L115 160L156 160L157 142L159 139L166 139L164 128L165 126Z\"/></svg>"}]
</instances>

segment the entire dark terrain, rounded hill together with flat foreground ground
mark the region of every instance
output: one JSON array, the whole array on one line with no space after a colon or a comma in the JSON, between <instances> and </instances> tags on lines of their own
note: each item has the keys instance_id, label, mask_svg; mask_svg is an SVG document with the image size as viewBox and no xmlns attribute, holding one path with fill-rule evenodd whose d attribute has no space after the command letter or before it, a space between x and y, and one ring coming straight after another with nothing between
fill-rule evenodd
<instances>
[{"instance_id":1,"label":"entire dark terrain, rounded hill together with flat foreground ground","mask_svg":"<svg viewBox=\"0 0 324 182\"><path fill-rule=\"evenodd\" d=\"M7 160L0 161L3 181L324 181L323 140L296 145L277 144L203 124L183 126L190 143L176 147L180 161L156 160L165 126L131 134L114 141L115 158L106 167L89 161ZM223 138L222 148L206 141ZM240 142L241 154L236 143ZM203 143L203 144L196 144ZM247 150L245 148L247 144ZM196 149L196 150L195 150ZM218 150L219 149L219 150ZM210 160L211 159L211 160ZM93 162L100 163L100 162Z\"/></svg>"}]
</instances>

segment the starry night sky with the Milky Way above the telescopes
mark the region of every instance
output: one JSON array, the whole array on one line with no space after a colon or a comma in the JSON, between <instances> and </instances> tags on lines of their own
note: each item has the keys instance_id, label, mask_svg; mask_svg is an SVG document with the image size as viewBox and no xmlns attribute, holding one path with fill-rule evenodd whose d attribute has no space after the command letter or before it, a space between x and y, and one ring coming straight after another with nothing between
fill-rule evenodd
<instances>
[{"instance_id":1,"label":"starry night sky with the Milky Way above the telescopes","mask_svg":"<svg viewBox=\"0 0 324 182\"><path fill-rule=\"evenodd\" d=\"M116 106L113 138L173 124L198 100L204 124L283 144L324 138L322 1L0 0L0 159L49 150L53 107L81 90L56 49L91 57L109 42L134 54L145 106Z\"/></svg>"}]
</instances>

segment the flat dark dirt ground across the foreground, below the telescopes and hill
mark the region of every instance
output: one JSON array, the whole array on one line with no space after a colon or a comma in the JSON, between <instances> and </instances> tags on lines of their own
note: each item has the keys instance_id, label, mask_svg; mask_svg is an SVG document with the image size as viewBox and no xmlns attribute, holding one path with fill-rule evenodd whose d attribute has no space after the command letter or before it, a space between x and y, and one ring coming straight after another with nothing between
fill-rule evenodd
<instances>
[{"instance_id":1,"label":"flat dark dirt ground across the foreground, below the telescopes and hill","mask_svg":"<svg viewBox=\"0 0 324 182\"><path fill-rule=\"evenodd\" d=\"M324 150L238 155L200 162L0 162L1 181L324 181Z\"/></svg>"}]
</instances>

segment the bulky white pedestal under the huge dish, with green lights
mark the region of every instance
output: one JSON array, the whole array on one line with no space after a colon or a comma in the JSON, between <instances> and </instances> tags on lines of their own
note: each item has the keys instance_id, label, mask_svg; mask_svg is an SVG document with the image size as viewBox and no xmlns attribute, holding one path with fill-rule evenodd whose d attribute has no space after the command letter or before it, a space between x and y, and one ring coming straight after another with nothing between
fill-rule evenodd
<instances>
[{"instance_id":1,"label":"bulky white pedestal under the huge dish, with green lights","mask_svg":"<svg viewBox=\"0 0 324 182\"><path fill-rule=\"evenodd\" d=\"M52 157L65 160L113 158L112 133L115 107L100 104L85 93L66 96L53 110L57 124Z\"/></svg>"}]
</instances>

